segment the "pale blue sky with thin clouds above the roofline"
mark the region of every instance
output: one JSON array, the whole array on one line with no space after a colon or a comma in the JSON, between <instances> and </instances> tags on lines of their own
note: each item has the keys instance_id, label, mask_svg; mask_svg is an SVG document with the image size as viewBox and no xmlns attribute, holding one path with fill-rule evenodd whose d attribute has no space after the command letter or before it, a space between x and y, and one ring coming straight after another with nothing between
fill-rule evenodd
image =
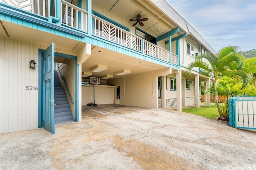
<instances>
[{"instance_id":1,"label":"pale blue sky with thin clouds above the roofline","mask_svg":"<svg viewBox=\"0 0 256 170\"><path fill-rule=\"evenodd\" d=\"M166 0L218 52L256 49L256 0Z\"/></svg>"}]
</instances>

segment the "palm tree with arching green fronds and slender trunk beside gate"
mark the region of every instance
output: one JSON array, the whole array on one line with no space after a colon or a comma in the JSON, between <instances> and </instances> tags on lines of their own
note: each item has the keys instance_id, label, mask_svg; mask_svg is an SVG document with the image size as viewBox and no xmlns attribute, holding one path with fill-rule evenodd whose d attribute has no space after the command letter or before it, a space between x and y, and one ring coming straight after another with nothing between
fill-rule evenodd
<instances>
[{"instance_id":1,"label":"palm tree with arching green fronds and slender trunk beside gate","mask_svg":"<svg viewBox=\"0 0 256 170\"><path fill-rule=\"evenodd\" d=\"M188 76L191 75L192 68L198 67L201 68L200 74L211 77L214 84L214 93L215 93L215 101L218 102L218 93L217 93L217 85L218 79L223 75L238 75L243 79L242 87L246 86L248 83L248 74L243 70L231 70L229 65L231 63L237 63L238 67L240 67L242 63L242 59L240 57L241 54L237 52L237 47L223 47L218 51L218 53L214 54L211 52L201 53L196 56L195 60L188 64L186 68L186 73ZM202 61L206 59L207 61ZM217 103L218 112L220 116L222 115L222 111L220 108L220 104Z\"/></svg>"}]
</instances>

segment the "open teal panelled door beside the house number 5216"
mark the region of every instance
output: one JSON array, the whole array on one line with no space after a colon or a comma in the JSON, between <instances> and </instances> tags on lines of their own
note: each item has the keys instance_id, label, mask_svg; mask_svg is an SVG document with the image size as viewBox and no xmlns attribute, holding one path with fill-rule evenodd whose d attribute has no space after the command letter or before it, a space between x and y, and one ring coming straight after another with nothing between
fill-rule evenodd
<instances>
[{"instance_id":1,"label":"open teal panelled door beside the house number 5216","mask_svg":"<svg viewBox=\"0 0 256 170\"><path fill-rule=\"evenodd\" d=\"M54 134L54 43L44 51L42 66L42 127Z\"/></svg>"}]
</instances>

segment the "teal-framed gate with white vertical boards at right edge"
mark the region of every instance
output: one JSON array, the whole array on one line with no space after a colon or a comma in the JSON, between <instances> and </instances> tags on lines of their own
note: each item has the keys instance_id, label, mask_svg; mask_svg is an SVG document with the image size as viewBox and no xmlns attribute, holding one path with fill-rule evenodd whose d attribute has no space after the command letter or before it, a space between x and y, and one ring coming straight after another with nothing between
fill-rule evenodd
<instances>
[{"instance_id":1,"label":"teal-framed gate with white vertical boards at right edge","mask_svg":"<svg viewBox=\"0 0 256 170\"><path fill-rule=\"evenodd\" d=\"M256 96L236 96L228 102L230 126L256 129Z\"/></svg>"}]
</instances>

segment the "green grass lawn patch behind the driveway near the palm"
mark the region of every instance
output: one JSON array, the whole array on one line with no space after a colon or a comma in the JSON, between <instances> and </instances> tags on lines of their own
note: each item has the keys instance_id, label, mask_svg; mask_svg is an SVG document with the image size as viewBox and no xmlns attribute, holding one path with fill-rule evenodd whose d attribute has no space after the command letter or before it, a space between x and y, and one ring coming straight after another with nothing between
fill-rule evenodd
<instances>
[{"instance_id":1,"label":"green grass lawn patch behind the driveway near the palm","mask_svg":"<svg viewBox=\"0 0 256 170\"><path fill-rule=\"evenodd\" d=\"M204 104L204 103L202 103ZM182 111L186 113L192 113L195 115L200 115L204 117L208 117L211 119L216 119L220 114L218 113L217 106L214 103L211 103L211 106L203 106L200 108L190 107L190 108L184 108Z\"/></svg>"}]
</instances>

